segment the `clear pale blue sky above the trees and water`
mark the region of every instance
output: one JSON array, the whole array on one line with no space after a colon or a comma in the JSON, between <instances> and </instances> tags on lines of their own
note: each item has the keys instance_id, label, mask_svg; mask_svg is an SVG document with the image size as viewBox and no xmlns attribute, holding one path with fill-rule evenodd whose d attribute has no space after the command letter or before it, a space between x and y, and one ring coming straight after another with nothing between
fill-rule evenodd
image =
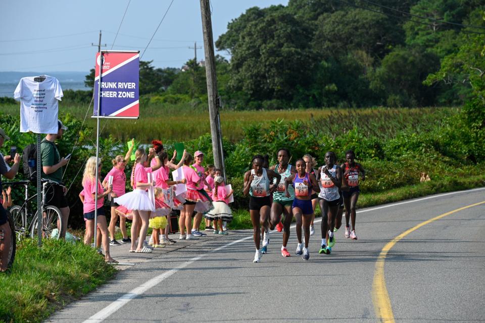
<instances>
[{"instance_id":1,"label":"clear pale blue sky above the trees and water","mask_svg":"<svg viewBox=\"0 0 485 323\"><path fill-rule=\"evenodd\" d=\"M141 54L170 1L131 0L113 49L139 49ZM214 40L248 8L287 2L212 0ZM127 4L128 0L0 2L0 72L89 71L100 29L102 44L108 45L103 48L111 49ZM174 0L142 60L153 60L156 67L181 67L193 58L193 49L188 47L195 41L203 46L200 1ZM198 59L203 57L203 49L198 49Z\"/></svg>"}]
</instances>

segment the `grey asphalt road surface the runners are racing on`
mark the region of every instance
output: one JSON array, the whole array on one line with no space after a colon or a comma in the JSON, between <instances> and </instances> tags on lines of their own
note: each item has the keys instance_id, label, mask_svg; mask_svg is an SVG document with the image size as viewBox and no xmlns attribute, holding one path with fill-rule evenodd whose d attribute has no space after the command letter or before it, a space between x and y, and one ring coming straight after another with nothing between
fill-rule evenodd
<instances>
[{"instance_id":1,"label":"grey asphalt road surface the runners are racing on","mask_svg":"<svg viewBox=\"0 0 485 323\"><path fill-rule=\"evenodd\" d=\"M331 255L309 261L279 252L273 232L269 253L253 263L252 232L232 231L176 244L121 271L108 285L51 316L53 322L375 322L373 280L381 249L399 234L440 214L485 201L485 190L456 192L362 209L358 241L336 233ZM485 321L485 204L462 209L414 230L381 258L392 315L399 322ZM229 244L232 243L232 244ZM229 244L229 245L228 245ZM118 257L121 259L121 257ZM96 316L97 315L97 316Z\"/></svg>"}]
</instances>

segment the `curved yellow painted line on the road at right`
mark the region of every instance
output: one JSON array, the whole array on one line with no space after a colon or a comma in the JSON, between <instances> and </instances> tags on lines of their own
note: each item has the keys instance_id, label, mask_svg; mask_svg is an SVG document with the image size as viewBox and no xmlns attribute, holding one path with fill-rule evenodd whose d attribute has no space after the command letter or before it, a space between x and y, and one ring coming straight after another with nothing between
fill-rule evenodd
<instances>
[{"instance_id":1,"label":"curved yellow painted line on the road at right","mask_svg":"<svg viewBox=\"0 0 485 323\"><path fill-rule=\"evenodd\" d=\"M374 280L372 282L372 303L374 303L374 311L378 322L394 323L394 314L393 314L393 308L391 306L391 299L389 298L389 294L387 293L387 288L385 287L385 279L384 279L384 261L385 261L385 257L387 256L387 253L391 250L391 248L394 247L396 243L398 243L401 239L406 237L408 234L418 230L422 226L425 226L433 221L440 220L446 216L449 216L450 214L453 214L461 210L464 210L473 206L477 206L483 203L485 203L485 201L463 206L453 211L443 213L438 217L421 222L417 226L404 231L399 236L397 236L390 242L386 243L384 248L382 248L382 250L380 251L379 256L377 257L377 261L375 262Z\"/></svg>"}]
</instances>

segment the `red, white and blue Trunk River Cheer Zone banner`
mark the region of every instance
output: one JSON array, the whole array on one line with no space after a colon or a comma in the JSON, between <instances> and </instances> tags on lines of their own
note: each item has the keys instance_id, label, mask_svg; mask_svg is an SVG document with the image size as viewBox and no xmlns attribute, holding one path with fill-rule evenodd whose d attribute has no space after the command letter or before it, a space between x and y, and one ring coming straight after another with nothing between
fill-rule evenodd
<instances>
[{"instance_id":1,"label":"red, white and blue Trunk River Cheer Zone banner","mask_svg":"<svg viewBox=\"0 0 485 323\"><path fill-rule=\"evenodd\" d=\"M101 95L99 94L101 66ZM96 53L93 118L137 119L139 117L139 52ZM101 99L100 97L101 96Z\"/></svg>"}]
</instances>

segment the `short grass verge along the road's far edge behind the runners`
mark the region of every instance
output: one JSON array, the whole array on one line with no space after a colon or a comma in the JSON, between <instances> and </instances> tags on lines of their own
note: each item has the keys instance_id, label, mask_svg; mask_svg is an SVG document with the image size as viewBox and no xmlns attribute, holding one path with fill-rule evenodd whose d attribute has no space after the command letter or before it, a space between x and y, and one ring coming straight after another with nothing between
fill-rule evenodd
<instances>
[{"instance_id":1,"label":"short grass verge along the road's far edge behind the runners","mask_svg":"<svg viewBox=\"0 0 485 323\"><path fill-rule=\"evenodd\" d=\"M466 190L485 186L485 175L471 176L468 178L448 177L441 181L430 181L419 183L417 185L404 186L380 193L361 193L357 208L370 207L386 203L417 198L432 194L446 193L452 191ZM233 220L229 224L229 229L252 229L249 211L246 209L235 209ZM315 210L315 217L321 217L319 207ZM295 219L293 219L295 222Z\"/></svg>"}]
</instances>

